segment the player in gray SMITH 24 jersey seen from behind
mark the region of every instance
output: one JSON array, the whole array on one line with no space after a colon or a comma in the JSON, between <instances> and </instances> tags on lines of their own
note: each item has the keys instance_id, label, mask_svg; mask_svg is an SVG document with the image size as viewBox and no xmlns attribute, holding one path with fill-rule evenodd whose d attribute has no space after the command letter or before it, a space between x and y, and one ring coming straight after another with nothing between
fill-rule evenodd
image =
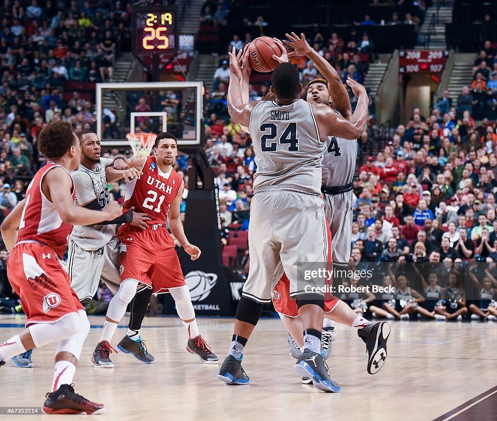
<instances>
[{"instance_id":1,"label":"player in gray SMITH 24 jersey seen from behind","mask_svg":"<svg viewBox=\"0 0 497 421\"><path fill-rule=\"evenodd\" d=\"M281 43L280 43L281 44ZM286 60L286 51L280 45ZM298 70L281 63L272 74L270 90L275 101L244 104L240 89L242 70L235 52L230 53L228 110L232 119L248 126L257 172L249 223L250 271L237 308L231 349L218 378L230 384L248 384L241 367L242 352L260 317L262 306L283 272L290 282L290 297L296 298L302 319L305 348L295 370L307 374L326 392L340 387L331 381L321 351L324 297L297 283L298 262L329 259L326 218L321 193L321 164L328 136L355 141L363 132L368 98L364 88L349 79L358 106L349 120L323 104L299 99L302 85ZM248 65L248 52L243 57Z\"/></svg>"}]
</instances>

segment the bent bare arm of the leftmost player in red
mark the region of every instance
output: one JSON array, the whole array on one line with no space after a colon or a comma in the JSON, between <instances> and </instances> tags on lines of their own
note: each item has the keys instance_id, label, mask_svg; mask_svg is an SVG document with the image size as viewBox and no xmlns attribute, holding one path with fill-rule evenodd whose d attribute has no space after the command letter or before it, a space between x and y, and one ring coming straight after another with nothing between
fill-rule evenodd
<instances>
[{"instance_id":1,"label":"bent bare arm of the leftmost player in red","mask_svg":"<svg viewBox=\"0 0 497 421\"><path fill-rule=\"evenodd\" d=\"M43 177L41 189L64 222L72 225L93 225L114 219L122 214L117 202L110 202L104 210L88 210L75 205L71 189L73 181L63 168L55 167Z\"/></svg>"}]
</instances>

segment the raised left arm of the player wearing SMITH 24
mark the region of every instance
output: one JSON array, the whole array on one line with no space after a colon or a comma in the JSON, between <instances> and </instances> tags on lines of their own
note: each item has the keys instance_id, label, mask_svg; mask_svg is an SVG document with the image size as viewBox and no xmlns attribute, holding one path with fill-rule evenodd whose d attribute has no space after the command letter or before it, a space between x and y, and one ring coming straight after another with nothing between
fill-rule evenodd
<instances>
[{"instance_id":1,"label":"raised left arm of the player wearing SMITH 24","mask_svg":"<svg viewBox=\"0 0 497 421\"><path fill-rule=\"evenodd\" d=\"M248 127L250 113L252 112L255 102L244 103L242 91L240 89L240 79L242 78L242 69L237 58L236 50L228 53L230 55L230 84L228 85L228 112L235 123Z\"/></svg>"}]
</instances>

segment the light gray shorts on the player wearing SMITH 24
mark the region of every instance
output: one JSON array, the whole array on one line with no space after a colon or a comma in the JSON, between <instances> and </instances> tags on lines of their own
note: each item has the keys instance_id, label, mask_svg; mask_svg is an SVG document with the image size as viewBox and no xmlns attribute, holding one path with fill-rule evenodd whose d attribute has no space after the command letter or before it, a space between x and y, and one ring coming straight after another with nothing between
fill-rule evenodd
<instances>
[{"instance_id":1,"label":"light gray shorts on the player wearing SMITH 24","mask_svg":"<svg viewBox=\"0 0 497 421\"><path fill-rule=\"evenodd\" d=\"M328 228L323 201L293 191L261 192L250 204L248 225L250 265L242 295L259 303L271 302L274 285L283 272L290 281L290 297L306 293L298 285L299 262L328 262Z\"/></svg>"}]
</instances>

